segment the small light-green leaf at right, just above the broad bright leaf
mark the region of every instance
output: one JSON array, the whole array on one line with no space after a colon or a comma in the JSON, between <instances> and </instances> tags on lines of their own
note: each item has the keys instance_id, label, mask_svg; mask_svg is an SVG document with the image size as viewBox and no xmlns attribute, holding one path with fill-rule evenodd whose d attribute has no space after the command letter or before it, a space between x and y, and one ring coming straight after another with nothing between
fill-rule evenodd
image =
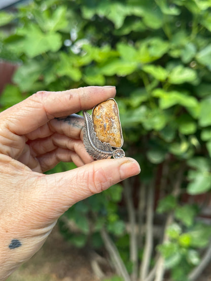
<instances>
[{"instance_id":1,"label":"small light-green leaf at right, just above the broad bright leaf","mask_svg":"<svg viewBox=\"0 0 211 281\"><path fill-rule=\"evenodd\" d=\"M196 78L197 73L195 70L184 67L183 65L178 65L169 73L168 81L171 84L183 84L186 82L193 82Z\"/></svg>"}]
</instances>

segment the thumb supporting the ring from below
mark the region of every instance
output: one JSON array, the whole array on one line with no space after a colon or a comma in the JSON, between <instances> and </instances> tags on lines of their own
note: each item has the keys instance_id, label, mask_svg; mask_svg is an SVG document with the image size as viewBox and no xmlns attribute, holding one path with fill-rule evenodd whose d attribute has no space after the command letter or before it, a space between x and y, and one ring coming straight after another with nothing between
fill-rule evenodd
<instances>
[{"instance_id":1,"label":"thumb supporting the ring from below","mask_svg":"<svg viewBox=\"0 0 211 281\"><path fill-rule=\"evenodd\" d=\"M39 184L38 194L44 196L40 199L45 202L47 212L51 210L58 217L80 200L139 172L140 167L132 158L98 160L71 171L41 177L45 183Z\"/></svg>"}]
</instances>

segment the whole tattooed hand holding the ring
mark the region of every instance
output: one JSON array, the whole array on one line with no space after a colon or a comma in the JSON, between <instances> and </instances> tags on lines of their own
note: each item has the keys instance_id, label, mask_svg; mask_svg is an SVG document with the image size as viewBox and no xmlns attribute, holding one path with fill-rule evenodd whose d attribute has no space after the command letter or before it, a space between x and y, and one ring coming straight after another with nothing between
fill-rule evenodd
<instances>
[{"instance_id":1,"label":"whole tattooed hand holding the ring","mask_svg":"<svg viewBox=\"0 0 211 281\"><path fill-rule=\"evenodd\" d=\"M68 208L140 172L132 158L93 161L83 145L83 117L74 113L115 94L42 91L0 113L0 280L40 249ZM78 168L43 174L60 161Z\"/></svg>"}]
</instances>

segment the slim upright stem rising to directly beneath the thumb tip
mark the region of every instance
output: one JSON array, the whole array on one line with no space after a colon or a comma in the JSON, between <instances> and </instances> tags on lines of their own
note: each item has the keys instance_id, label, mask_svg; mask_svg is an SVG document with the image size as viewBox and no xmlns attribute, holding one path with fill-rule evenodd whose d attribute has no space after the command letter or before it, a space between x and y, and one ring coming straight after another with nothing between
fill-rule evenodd
<instances>
[{"instance_id":1,"label":"slim upright stem rising to directly beneath the thumb tip","mask_svg":"<svg viewBox=\"0 0 211 281\"><path fill-rule=\"evenodd\" d=\"M126 202L128 219L130 224L130 261L133 264L133 269L131 273L131 280L135 281L137 279L137 268L138 268L138 251L137 251L137 235L135 231L136 220L135 220L135 208L133 204L133 197L131 192L130 180L123 181L124 186L124 198Z\"/></svg>"}]
</instances>

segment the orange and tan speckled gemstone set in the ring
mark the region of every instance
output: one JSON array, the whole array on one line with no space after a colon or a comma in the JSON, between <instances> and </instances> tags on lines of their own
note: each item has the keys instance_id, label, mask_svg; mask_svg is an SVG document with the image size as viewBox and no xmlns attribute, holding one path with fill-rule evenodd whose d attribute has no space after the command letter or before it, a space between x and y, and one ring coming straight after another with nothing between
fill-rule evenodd
<instances>
[{"instance_id":1,"label":"orange and tan speckled gemstone set in the ring","mask_svg":"<svg viewBox=\"0 0 211 281\"><path fill-rule=\"evenodd\" d=\"M101 142L119 148L123 145L119 109L114 99L96 105L92 111L96 136Z\"/></svg>"}]
</instances>

